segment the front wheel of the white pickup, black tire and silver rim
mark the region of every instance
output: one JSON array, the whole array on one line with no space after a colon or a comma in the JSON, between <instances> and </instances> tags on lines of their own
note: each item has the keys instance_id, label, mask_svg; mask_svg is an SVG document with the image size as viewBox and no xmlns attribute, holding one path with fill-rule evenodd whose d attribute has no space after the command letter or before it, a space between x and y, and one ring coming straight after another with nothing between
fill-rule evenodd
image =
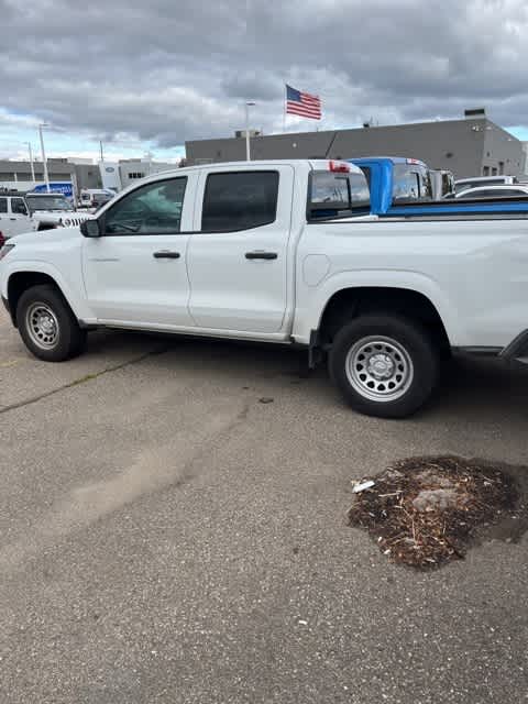
<instances>
[{"instance_id":1,"label":"front wheel of the white pickup, black tire and silver rim","mask_svg":"<svg viewBox=\"0 0 528 704\"><path fill-rule=\"evenodd\" d=\"M47 337L42 326L31 323L31 319L38 318L35 312L38 306L44 314L52 314L46 316L52 320ZM25 346L45 362L69 360L80 354L86 342L86 330L79 328L62 294L47 284L33 286L22 294L16 306L16 324Z\"/></svg>"}]
</instances>

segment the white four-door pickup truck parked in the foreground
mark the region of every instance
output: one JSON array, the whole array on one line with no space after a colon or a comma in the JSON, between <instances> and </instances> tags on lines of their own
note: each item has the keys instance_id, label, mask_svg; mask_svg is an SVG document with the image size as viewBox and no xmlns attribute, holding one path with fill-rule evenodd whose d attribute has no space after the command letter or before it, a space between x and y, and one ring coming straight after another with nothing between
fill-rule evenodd
<instances>
[{"instance_id":1,"label":"white four-door pickup truck parked in the foreground","mask_svg":"<svg viewBox=\"0 0 528 704\"><path fill-rule=\"evenodd\" d=\"M302 345L374 416L416 411L453 349L528 362L525 216L365 211L365 177L342 162L164 172L80 231L10 240L0 292L42 360L97 327Z\"/></svg>"}]
</instances>

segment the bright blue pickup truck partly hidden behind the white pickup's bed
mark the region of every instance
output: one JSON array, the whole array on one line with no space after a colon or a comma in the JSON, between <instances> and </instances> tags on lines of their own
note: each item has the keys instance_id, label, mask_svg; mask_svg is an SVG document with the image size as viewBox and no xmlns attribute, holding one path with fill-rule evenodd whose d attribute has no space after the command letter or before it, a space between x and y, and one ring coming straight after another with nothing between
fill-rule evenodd
<instances>
[{"instance_id":1,"label":"bright blue pickup truck partly hidden behind the white pickup's bed","mask_svg":"<svg viewBox=\"0 0 528 704\"><path fill-rule=\"evenodd\" d=\"M346 160L359 166L369 183L372 215L380 217L427 217L457 215L526 213L528 198L438 200L436 172L416 158L362 156Z\"/></svg>"}]
</instances>

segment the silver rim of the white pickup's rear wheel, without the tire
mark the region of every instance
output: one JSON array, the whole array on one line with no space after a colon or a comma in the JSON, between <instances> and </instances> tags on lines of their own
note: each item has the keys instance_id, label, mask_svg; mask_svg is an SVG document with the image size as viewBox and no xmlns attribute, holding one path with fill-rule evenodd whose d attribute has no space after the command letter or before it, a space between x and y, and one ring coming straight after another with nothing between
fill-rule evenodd
<instances>
[{"instance_id":1,"label":"silver rim of the white pickup's rear wheel, without the tire","mask_svg":"<svg viewBox=\"0 0 528 704\"><path fill-rule=\"evenodd\" d=\"M352 345L345 367L350 385L358 394L382 403L402 398L415 376L413 360L404 345L377 334Z\"/></svg>"}]
</instances>

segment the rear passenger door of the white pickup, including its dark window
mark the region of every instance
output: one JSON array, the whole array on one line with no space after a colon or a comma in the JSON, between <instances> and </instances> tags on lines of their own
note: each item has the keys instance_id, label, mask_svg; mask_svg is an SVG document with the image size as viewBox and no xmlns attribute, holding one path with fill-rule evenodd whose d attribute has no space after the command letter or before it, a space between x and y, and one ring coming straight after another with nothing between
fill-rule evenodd
<instances>
[{"instance_id":1,"label":"rear passenger door of the white pickup, including its dark window","mask_svg":"<svg viewBox=\"0 0 528 704\"><path fill-rule=\"evenodd\" d=\"M200 175L187 250L190 315L199 328L275 333L287 305L294 168Z\"/></svg>"}]
</instances>

